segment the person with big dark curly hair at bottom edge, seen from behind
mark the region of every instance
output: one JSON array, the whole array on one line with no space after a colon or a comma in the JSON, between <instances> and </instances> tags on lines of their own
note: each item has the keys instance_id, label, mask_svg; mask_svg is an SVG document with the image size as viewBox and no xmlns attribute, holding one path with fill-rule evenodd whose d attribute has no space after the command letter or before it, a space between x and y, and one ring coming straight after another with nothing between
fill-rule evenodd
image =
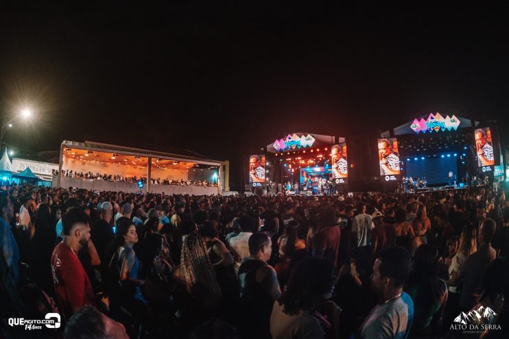
<instances>
[{"instance_id":1,"label":"person with big dark curly hair at bottom edge, seen from behind","mask_svg":"<svg viewBox=\"0 0 509 339\"><path fill-rule=\"evenodd\" d=\"M324 330L315 312L320 303L331 298L333 281L334 271L330 261L305 258L300 262L285 292L272 306L272 339L324 338Z\"/></svg>"}]
</instances>

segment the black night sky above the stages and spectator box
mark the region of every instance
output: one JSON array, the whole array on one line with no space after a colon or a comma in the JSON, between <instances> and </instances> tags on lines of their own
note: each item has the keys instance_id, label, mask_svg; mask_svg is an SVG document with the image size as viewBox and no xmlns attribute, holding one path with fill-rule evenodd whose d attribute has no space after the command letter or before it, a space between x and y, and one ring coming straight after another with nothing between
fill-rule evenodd
<instances>
[{"instance_id":1,"label":"black night sky above the stages and spectator box","mask_svg":"<svg viewBox=\"0 0 509 339\"><path fill-rule=\"evenodd\" d=\"M443 112L496 119L504 142L502 8L75 2L0 4L1 114L37 114L5 135L20 154L169 145L230 160L236 188L243 154L297 131L348 137Z\"/></svg>"}]
</instances>

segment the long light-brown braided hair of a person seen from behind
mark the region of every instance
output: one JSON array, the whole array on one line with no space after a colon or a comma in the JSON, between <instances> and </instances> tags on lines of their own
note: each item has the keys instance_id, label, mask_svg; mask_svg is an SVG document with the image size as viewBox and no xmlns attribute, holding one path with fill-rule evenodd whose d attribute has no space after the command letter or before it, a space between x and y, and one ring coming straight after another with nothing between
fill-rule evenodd
<instances>
[{"instance_id":1,"label":"long light-brown braided hair of a person seen from behind","mask_svg":"<svg viewBox=\"0 0 509 339\"><path fill-rule=\"evenodd\" d=\"M185 281L188 292L201 284L215 297L221 297L220 286L217 284L205 242L197 234L185 237L180 253L180 276Z\"/></svg>"}]
</instances>

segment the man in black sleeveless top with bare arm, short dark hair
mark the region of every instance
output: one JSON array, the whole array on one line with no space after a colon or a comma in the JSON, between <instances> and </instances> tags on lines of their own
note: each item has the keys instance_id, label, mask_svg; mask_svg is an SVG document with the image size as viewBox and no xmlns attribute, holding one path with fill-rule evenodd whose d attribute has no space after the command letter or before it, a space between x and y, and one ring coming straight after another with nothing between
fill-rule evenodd
<instances>
[{"instance_id":1,"label":"man in black sleeveless top with bare arm, short dark hair","mask_svg":"<svg viewBox=\"0 0 509 339\"><path fill-rule=\"evenodd\" d=\"M270 338L270 314L274 301L281 296L274 268L267 264L272 253L269 236L255 233L250 236L250 256L239 268L243 338Z\"/></svg>"}]
</instances>

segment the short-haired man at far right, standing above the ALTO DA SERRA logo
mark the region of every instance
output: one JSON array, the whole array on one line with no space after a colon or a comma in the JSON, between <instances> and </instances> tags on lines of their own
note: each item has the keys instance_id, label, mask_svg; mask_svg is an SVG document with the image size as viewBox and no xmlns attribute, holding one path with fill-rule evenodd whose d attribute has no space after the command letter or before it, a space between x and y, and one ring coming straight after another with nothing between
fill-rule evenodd
<instances>
[{"instance_id":1,"label":"short-haired man at far right, standing above the ALTO DA SERRA logo","mask_svg":"<svg viewBox=\"0 0 509 339\"><path fill-rule=\"evenodd\" d=\"M491 247L491 240L495 236L497 225L493 219L485 219L479 230L479 248L466 258L460 273L463 289L460 295L460 307L464 311L479 302L482 294L482 279L489 265L495 260L497 253Z\"/></svg>"}]
</instances>

